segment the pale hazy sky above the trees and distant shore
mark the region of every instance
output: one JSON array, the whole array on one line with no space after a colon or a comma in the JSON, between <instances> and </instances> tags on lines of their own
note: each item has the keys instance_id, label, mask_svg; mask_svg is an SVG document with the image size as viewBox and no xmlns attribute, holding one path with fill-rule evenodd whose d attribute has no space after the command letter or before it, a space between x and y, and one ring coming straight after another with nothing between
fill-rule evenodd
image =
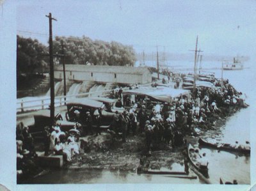
<instances>
[{"instance_id":1,"label":"pale hazy sky above the trees and distant shore","mask_svg":"<svg viewBox=\"0 0 256 191\"><path fill-rule=\"evenodd\" d=\"M205 54L255 54L256 1L252 0L37 2L21 1L17 6L17 33L45 44L49 34L45 15L51 12L58 20L53 22L54 35L114 40L146 52L159 45L173 53L195 49L198 35Z\"/></svg>"}]
</instances>

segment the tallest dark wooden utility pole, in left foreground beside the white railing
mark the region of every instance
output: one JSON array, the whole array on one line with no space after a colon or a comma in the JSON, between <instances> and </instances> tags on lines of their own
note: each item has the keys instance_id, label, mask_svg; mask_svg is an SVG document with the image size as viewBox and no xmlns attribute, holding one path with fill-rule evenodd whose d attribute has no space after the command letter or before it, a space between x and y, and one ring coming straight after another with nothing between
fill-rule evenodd
<instances>
[{"instance_id":1,"label":"tallest dark wooden utility pole, in left foreground beside the white railing","mask_svg":"<svg viewBox=\"0 0 256 191\"><path fill-rule=\"evenodd\" d=\"M53 53L52 53L52 14L45 15L49 18L49 59L50 59L50 87L51 87L51 125L54 123L54 67L53 67Z\"/></svg>"}]
</instances>

